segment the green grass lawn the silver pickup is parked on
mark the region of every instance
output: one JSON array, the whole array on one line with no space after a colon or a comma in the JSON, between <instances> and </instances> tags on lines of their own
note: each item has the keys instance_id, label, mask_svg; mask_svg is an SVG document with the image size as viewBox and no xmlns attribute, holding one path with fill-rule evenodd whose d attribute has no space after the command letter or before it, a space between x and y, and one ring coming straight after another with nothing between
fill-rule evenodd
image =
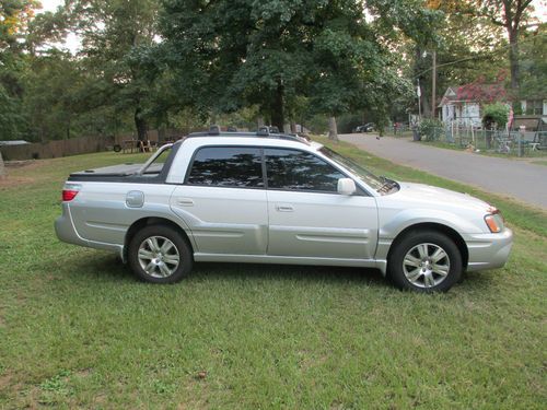
<instances>
[{"instance_id":1,"label":"green grass lawn the silver pickup is parked on","mask_svg":"<svg viewBox=\"0 0 547 410\"><path fill-rule=\"evenodd\" d=\"M545 408L547 214L335 149L499 204L516 235L508 266L440 295L399 292L374 270L235 263L149 285L116 255L62 244L53 230L71 171L142 156L9 168L0 408Z\"/></svg>"}]
</instances>

